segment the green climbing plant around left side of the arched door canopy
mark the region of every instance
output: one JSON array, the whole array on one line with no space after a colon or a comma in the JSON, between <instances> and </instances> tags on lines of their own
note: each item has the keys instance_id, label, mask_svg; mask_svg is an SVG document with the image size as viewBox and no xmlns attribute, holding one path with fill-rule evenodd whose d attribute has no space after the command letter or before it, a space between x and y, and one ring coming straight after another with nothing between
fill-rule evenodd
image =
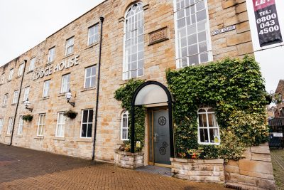
<instances>
[{"instance_id":1,"label":"green climbing plant around left side of the arched door canopy","mask_svg":"<svg viewBox=\"0 0 284 190\"><path fill-rule=\"evenodd\" d=\"M121 101L121 107L129 111L129 139L131 138L131 100L138 86L142 85L144 82L144 80L131 79L114 93L114 98ZM145 108L135 107L135 141L141 142L141 147L136 147L136 152L140 151L144 145L145 117ZM130 146L129 142L126 142L126 146Z\"/></svg>"}]
</instances>

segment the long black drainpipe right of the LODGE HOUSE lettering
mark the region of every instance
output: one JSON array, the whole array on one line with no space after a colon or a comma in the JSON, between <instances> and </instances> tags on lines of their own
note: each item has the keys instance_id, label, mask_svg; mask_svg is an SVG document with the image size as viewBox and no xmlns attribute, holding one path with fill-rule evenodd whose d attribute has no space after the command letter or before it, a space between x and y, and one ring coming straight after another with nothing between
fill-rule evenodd
<instances>
[{"instance_id":1,"label":"long black drainpipe right of the LODGE HOUSE lettering","mask_svg":"<svg viewBox=\"0 0 284 190\"><path fill-rule=\"evenodd\" d=\"M94 147L96 146L96 134L97 134L97 112L99 108L99 77L101 75L101 58L102 58L102 23L104 22L104 17L99 17L101 21L101 37L99 40L99 63L98 63L98 80L97 80L97 102L96 102L96 112L94 115L94 141L93 141L93 153L92 153L92 160L94 161Z\"/></svg>"}]
</instances>

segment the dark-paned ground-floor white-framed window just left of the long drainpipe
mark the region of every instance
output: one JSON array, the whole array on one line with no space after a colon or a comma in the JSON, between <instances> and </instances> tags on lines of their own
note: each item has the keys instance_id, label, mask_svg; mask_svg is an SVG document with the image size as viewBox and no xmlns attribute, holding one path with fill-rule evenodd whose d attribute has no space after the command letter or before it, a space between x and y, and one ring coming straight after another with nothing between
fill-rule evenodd
<instances>
[{"instance_id":1,"label":"dark-paned ground-floor white-framed window just left of the long drainpipe","mask_svg":"<svg viewBox=\"0 0 284 190\"><path fill-rule=\"evenodd\" d=\"M92 127L93 127L93 110L83 110L82 111L82 124L81 124L81 138L91 138L92 137Z\"/></svg>"}]
</instances>

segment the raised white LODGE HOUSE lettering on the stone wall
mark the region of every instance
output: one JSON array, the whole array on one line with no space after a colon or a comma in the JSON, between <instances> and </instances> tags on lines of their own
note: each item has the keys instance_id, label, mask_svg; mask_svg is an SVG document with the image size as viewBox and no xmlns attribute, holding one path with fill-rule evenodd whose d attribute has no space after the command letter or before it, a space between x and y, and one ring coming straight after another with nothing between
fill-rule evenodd
<instances>
[{"instance_id":1,"label":"raised white LODGE HOUSE lettering on the stone wall","mask_svg":"<svg viewBox=\"0 0 284 190\"><path fill-rule=\"evenodd\" d=\"M54 67L53 65L50 65L48 67L35 71L33 73L33 80L37 80L38 78L43 78L44 76L51 75L65 68L71 68L72 66L78 64L79 64L79 55L69 58L68 60L67 59L62 60L61 63L58 63Z\"/></svg>"}]
</instances>

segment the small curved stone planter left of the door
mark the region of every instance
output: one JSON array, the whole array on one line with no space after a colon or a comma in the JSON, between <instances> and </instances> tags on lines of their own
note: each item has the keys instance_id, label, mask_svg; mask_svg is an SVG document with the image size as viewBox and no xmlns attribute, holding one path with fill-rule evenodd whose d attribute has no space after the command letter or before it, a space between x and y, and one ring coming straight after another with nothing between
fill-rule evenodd
<instances>
[{"instance_id":1,"label":"small curved stone planter left of the door","mask_svg":"<svg viewBox=\"0 0 284 190\"><path fill-rule=\"evenodd\" d=\"M124 152L119 149L114 150L114 164L118 167L127 169L136 169L144 166L144 153L143 152Z\"/></svg>"}]
</instances>

